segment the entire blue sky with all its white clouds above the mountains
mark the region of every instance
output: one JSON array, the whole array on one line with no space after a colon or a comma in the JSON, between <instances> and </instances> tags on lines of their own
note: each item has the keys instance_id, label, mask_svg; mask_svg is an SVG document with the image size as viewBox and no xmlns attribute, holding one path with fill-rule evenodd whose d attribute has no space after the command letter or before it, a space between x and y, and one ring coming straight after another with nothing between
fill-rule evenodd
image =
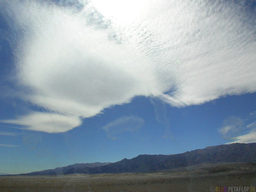
<instances>
[{"instance_id":1,"label":"entire blue sky with all its white clouds above the mountains","mask_svg":"<svg viewBox=\"0 0 256 192\"><path fill-rule=\"evenodd\" d=\"M0 2L0 173L256 142L256 1Z\"/></svg>"}]
</instances>

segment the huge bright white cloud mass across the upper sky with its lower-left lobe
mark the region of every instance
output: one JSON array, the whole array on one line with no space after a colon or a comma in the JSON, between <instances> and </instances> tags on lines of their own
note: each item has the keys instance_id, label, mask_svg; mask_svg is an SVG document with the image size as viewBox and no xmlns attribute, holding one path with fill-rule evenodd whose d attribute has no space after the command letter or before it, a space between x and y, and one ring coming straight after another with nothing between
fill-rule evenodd
<instances>
[{"instance_id":1,"label":"huge bright white cloud mass across the upper sky with its lower-left lobe","mask_svg":"<svg viewBox=\"0 0 256 192\"><path fill-rule=\"evenodd\" d=\"M256 91L255 18L240 4L13 2L0 5L23 34L13 38L17 81L25 100L51 113L10 124L65 132L136 95L180 107Z\"/></svg>"}]
</instances>

